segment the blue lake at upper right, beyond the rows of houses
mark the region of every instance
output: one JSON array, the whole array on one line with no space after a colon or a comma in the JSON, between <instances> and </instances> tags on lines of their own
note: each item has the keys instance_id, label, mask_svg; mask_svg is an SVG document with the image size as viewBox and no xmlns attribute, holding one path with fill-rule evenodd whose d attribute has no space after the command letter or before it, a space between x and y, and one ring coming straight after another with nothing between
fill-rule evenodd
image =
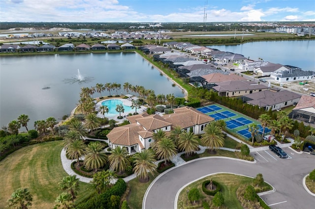
<instances>
[{"instance_id":1,"label":"blue lake at upper right, beyond the rows of houses","mask_svg":"<svg viewBox=\"0 0 315 209\"><path fill-rule=\"evenodd\" d=\"M210 45L212 49L233 52L258 60L291 65L305 71L315 71L315 40L260 41L238 45Z\"/></svg>"}]
</instances>

